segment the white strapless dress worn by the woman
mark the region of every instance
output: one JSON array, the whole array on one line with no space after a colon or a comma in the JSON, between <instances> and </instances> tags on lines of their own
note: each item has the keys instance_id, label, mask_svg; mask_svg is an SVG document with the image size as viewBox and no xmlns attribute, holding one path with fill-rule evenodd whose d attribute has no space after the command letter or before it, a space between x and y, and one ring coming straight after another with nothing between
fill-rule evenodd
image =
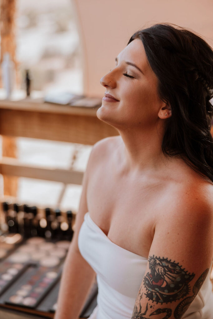
<instances>
[{"instance_id":1,"label":"white strapless dress worn by the woman","mask_svg":"<svg viewBox=\"0 0 213 319\"><path fill-rule=\"evenodd\" d=\"M148 259L110 241L89 212L80 228L78 246L81 255L97 274L97 306L89 319L131 319ZM182 318L213 319L210 270Z\"/></svg>"}]
</instances>

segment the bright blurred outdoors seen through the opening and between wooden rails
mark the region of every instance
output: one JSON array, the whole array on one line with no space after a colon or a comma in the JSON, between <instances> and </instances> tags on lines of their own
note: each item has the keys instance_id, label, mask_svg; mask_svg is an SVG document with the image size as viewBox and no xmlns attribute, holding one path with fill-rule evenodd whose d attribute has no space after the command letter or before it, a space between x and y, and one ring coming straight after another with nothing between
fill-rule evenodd
<instances>
[{"instance_id":1,"label":"bright blurred outdoors seen through the opening and between wooden rails","mask_svg":"<svg viewBox=\"0 0 213 319\"><path fill-rule=\"evenodd\" d=\"M15 10L14 41L18 72L12 99L22 99L26 95L25 70L27 69L31 78L31 94L34 97L56 91L82 94L80 39L72 1L17 0ZM2 98L5 97L3 88L1 95ZM0 150L2 150L2 137L0 143ZM73 154L77 151L75 168L81 171L86 168L92 148L91 145L22 137L16 138L16 144L17 158L20 162L49 168L68 169L72 163ZM1 186L0 191L3 196L2 175ZM61 192L64 196L60 202ZM64 191L62 183L22 177L18 179L17 200L19 202L32 202L46 206L60 204L61 209L72 208L77 211L80 194L80 185L67 185Z\"/></svg>"}]
</instances>

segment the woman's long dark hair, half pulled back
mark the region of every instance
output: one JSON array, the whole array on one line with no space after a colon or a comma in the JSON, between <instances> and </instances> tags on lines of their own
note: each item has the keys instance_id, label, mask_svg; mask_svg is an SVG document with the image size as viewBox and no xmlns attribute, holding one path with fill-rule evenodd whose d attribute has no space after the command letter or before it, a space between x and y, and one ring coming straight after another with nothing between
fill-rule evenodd
<instances>
[{"instance_id":1,"label":"woman's long dark hair, half pulled back","mask_svg":"<svg viewBox=\"0 0 213 319\"><path fill-rule=\"evenodd\" d=\"M189 167L213 182L212 48L201 36L171 23L139 30L128 44L138 38L158 78L158 95L171 107L162 151L167 156L181 157Z\"/></svg>"}]
</instances>

